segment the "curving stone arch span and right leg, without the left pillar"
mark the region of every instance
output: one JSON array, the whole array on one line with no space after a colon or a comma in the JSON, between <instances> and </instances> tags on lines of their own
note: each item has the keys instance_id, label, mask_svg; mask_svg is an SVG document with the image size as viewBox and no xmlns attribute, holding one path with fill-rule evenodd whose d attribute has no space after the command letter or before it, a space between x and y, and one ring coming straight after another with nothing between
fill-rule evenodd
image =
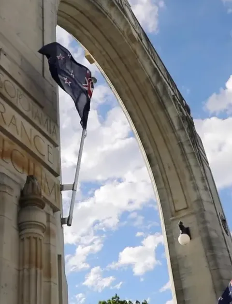
<instances>
[{"instance_id":1,"label":"curving stone arch span and right leg, without the left pillar","mask_svg":"<svg viewBox=\"0 0 232 304\"><path fill-rule=\"evenodd\" d=\"M157 192L174 301L185 303L191 297L195 303L205 303L205 299L209 303L209 295L204 299L196 293L203 284L211 301L215 301L222 286L222 281L216 279L221 277L217 249L226 245L218 214L212 211L217 208L203 170L201 143L185 101L130 8L122 3L61 1L58 25L80 41L101 66L140 144ZM209 212L205 212L207 208ZM191 251L177 242L177 223L181 219L191 227ZM212 222L217 226L215 243L209 240ZM222 278L225 280L231 270L226 250L223 258L228 273L225 270ZM212 255L216 255L214 265ZM205 270L199 278L202 267Z\"/></svg>"}]
</instances>

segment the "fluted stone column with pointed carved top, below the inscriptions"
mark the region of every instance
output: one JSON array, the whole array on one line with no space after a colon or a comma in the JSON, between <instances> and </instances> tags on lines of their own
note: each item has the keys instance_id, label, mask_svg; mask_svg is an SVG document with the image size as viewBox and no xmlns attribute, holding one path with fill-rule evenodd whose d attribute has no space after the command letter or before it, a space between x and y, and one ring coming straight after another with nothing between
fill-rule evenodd
<instances>
[{"instance_id":1,"label":"fluted stone column with pointed carved top, below the inscriptions","mask_svg":"<svg viewBox=\"0 0 232 304\"><path fill-rule=\"evenodd\" d=\"M28 176L20 198L18 304L43 304L43 237L45 203L34 176Z\"/></svg>"}]
</instances>

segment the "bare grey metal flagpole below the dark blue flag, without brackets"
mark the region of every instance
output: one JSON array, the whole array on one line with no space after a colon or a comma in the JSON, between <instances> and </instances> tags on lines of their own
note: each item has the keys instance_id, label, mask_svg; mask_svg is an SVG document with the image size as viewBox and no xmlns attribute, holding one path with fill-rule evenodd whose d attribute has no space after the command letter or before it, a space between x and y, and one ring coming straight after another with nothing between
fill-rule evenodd
<instances>
[{"instance_id":1,"label":"bare grey metal flagpole below the dark blue flag, without brackets","mask_svg":"<svg viewBox=\"0 0 232 304\"><path fill-rule=\"evenodd\" d=\"M73 192L72 192L72 198L71 198L71 203L70 203L69 216L68 216L68 220L67 220L68 226L71 226L72 221L73 221L73 209L74 209L74 203L75 203L75 198L76 198L76 190L77 190L78 177L79 177L80 167L81 167L81 158L82 158L82 153L83 153L83 147L84 147L84 142L85 142L85 138L87 135L86 133L87 133L86 129L83 129L82 135L81 135L81 143L80 143L80 149L79 149L79 153L78 153L73 189L72 189Z\"/></svg>"}]
</instances>

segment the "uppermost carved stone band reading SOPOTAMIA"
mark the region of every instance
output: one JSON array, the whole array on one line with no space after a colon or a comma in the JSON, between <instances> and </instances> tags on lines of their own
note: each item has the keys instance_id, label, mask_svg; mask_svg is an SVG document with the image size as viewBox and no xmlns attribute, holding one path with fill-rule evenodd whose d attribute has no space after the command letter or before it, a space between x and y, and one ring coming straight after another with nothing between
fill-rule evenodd
<instances>
[{"instance_id":1,"label":"uppermost carved stone band reading SOPOTAMIA","mask_svg":"<svg viewBox=\"0 0 232 304\"><path fill-rule=\"evenodd\" d=\"M0 71L0 93L58 146L58 125L3 71Z\"/></svg>"}]
</instances>

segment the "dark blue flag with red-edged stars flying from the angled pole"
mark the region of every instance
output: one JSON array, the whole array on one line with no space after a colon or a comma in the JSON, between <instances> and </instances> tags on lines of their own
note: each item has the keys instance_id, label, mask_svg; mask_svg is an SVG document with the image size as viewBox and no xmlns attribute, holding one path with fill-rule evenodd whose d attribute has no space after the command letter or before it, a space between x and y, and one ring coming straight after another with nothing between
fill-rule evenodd
<instances>
[{"instance_id":1,"label":"dark blue flag with red-edged stars flying from the angled pole","mask_svg":"<svg viewBox=\"0 0 232 304\"><path fill-rule=\"evenodd\" d=\"M38 52L47 57L52 78L73 98L82 128L86 129L94 88L91 72L58 42L49 43Z\"/></svg>"}]
</instances>

